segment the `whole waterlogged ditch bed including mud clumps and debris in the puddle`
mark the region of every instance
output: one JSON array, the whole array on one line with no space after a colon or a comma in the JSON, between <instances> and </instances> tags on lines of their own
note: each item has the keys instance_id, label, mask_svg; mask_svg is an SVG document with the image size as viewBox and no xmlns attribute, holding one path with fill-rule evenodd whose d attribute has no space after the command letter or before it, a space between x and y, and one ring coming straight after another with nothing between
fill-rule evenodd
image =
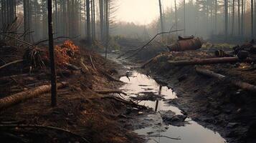
<instances>
[{"instance_id":1,"label":"whole waterlogged ditch bed including mud clumps and debris in the puddle","mask_svg":"<svg viewBox=\"0 0 256 143\"><path fill-rule=\"evenodd\" d=\"M168 101L179 98L171 89L161 86L153 78L136 70L128 72L128 77L120 78L125 82L120 89L130 95L128 98L156 111L154 114L141 117L150 123L149 126L134 130L146 137L148 142L226 142L219 133L202 127L187 117L181 109L168 104Z\"/></svg>"}]
</instances>

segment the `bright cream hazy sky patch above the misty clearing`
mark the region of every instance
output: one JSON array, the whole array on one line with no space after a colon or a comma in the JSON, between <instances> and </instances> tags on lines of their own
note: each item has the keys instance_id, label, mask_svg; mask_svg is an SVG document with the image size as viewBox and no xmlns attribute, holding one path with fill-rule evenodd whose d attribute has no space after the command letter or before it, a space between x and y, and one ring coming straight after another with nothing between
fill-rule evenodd
<instances>
[{"instance_id":1,"label":"bright cream hazy sky patch above the misty clearing","mask_svg":"<svg viewBox=\"0 0 256 143\"><path fill-rule=\"evenodd\" d=\"M174 0L162 0L163 6L171 6ZM180 1L180 0L177 0ZM166 8L165 8L166 9ZM158 0L118 0L118 21L150 24L159 16Z\"/></svg>"}]
</instances>

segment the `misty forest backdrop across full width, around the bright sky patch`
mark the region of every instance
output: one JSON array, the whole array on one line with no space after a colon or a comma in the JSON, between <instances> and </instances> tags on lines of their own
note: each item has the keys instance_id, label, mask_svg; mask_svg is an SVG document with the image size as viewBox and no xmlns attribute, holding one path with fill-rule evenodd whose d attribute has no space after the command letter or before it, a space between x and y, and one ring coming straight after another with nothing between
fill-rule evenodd
<instances>
[{"instance_id":1,"label":"misty forest backdrop across full width, around the bright sky patch","mask_svg":"<svg viewBox=\"0 0 256 143\"><path fill-rule=\"evenodd\" d=\"M174 0L175 6L163 9L151 24L136 25L116 21L115 0L54 0L54 37L69 36L108 41L107 35L149 39L160 31L184 29L179 35L204 38L250 39L255 36L254 0ZM1 0L1 32L13 28L25 32L24 39L47 39L46 0ZM121 2L121 1L120 1ZM161 2L156 0L156 2ZM162 16L162 26L160 17ZM15 26L11 25L15 21ZM163 27L163 28L161 28ZM175 35L175 34L174 34Z\"/></svg>"}]
</instances>

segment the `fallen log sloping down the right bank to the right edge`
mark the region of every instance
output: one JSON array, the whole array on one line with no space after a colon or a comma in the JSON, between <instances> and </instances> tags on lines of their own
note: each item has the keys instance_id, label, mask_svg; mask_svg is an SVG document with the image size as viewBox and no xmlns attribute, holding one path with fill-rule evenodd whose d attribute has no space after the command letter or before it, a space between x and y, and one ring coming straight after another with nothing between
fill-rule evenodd
<instances>
[{"instance_id":1,"label":"fallen log sloping down the right bank to the right edge","mask_svg":"<svg viewBox=\"0 0 256 143\"><path fill-rule=\"evenodd\" d=\"M224 76L222 74L215 73L214 71L210 71L209 69L196 68L196 72L198 74L202 74L202 75L205 75L208 77L214 77L214 78L221 79L221 80L227 79L226 76ZM247 90L250 92L256 92L255 85L249 84L247 82L240 82L237 80L232 80L232 79L228 79L228 80L230 83L232 83L236 87L239 87L240 89L244 89L244 90Z\"/></svg>"}]
</instances>

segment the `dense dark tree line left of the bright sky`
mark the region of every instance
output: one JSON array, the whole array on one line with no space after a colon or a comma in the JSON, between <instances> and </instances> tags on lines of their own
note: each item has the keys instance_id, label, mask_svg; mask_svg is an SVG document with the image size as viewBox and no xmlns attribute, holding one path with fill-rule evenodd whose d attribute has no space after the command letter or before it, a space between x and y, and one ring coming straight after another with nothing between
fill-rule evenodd
<instances>
[{"instance_id":1,"label":"dense dark tree line left of the bright sky","mask_svg":"<svg viewBox=\"0 0 256 143\"><path fill-rule=\"evenodd\" d=\"M86 38L89 44L108 37L113 0L52 0L54 37ZM47 39L47 0L0 0L0 29L21 21L26 41ZM17 25L17 22L16 22Z\"/></svg>"}]
</instances>

